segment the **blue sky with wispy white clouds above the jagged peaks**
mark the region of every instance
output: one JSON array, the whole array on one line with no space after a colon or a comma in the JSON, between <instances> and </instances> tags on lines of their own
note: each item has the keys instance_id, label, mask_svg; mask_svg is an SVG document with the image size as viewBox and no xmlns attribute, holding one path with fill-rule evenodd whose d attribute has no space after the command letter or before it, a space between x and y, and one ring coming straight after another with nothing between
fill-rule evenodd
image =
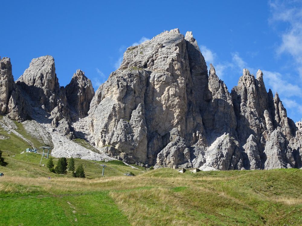
<instances>
[{"instance_id":1,"label":"blue sky with wispy white clouds above the jagged peaks","mask_svg":"<svg viewBox=\"0 0 302 226\"><path fill-rule=\"evenodd\" d=\"M17 79L32 58L52 55L60 85L80 68L95 89L124 50L164 30L190 30L229 91L243 68L264 72L294 121L302 118L302 0L3 1L0 56Z\"/></svg>"}]
</instances>

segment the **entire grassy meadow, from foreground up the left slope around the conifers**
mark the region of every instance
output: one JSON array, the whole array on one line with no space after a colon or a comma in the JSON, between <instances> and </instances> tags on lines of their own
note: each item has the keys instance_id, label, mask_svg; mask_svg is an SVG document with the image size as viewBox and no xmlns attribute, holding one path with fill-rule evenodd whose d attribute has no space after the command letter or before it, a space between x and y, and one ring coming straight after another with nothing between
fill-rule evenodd
<instances>
[{"instance_id":1,"label":"entire grassy meadow, from foreground up the left slope around the conifers","mask_svg":"<svg viewBox=\"0 0 302 226\"><path fill-rule=\"evenodd\" d=\"M8 162L0 166L0 225L302 225L300 169L181 174L75 159L86 178L74 178L50 173L39 154L20 154L29 144L18 136L1 127L0 135L8 137L0 140Z\"/></svg>"}]
</instances>

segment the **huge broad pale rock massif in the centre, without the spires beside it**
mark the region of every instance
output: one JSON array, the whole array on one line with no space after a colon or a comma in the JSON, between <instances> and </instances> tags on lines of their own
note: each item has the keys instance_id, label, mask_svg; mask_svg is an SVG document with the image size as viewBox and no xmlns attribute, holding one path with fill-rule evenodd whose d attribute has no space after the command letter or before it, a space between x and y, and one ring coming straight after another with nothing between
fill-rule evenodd
<instances>
[{"instance_id":1,"label":"huge broad pale rock massif in the centre, without the spires beside it","mask_svg":"<svg viewBox=\"0 0 302 226\"><path fill-rule=\"evenodd\" d=\"M204 139L201 108L188 92L207 80L207 68L199 52L203 63L194 64L200 78L194 87L187 42L175 29L127 49L92 100L88 118L97 146L112 146L115 156L126 154L129 162L154 165L164 161L157 155L178 149L181 140L190 145ZM140 123L132 123L134 116Z\"/></svg>"}]
</instances>

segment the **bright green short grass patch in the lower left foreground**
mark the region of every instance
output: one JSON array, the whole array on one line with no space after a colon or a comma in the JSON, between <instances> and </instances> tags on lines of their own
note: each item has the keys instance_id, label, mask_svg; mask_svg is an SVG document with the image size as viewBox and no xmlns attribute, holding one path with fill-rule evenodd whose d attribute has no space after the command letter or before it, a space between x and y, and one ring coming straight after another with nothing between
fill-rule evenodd
<instances>
[{"instance_id":1,"label":"bright green short grass patch in the lower left foreground","mask_svg":"<svg viewBox=\"0 0 302 226\"><path fill-rule=\"evenodd\" d=\"M108 192L0 200L0 225L130 225Z\"/></svg>"}]
</instances>

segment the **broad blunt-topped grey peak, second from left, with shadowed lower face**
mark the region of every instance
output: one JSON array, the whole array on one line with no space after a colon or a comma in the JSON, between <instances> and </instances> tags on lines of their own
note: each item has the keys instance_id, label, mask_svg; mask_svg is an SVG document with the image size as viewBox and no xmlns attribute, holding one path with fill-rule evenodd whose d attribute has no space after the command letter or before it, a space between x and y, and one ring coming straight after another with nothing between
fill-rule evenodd
<instances>
[{"instance_id":1,"label":"broad blunt-topped grey peak, second from left, with shadowed lower face","mask_svg":"<svg viewBox=\"0 0 302 226\"><path fill-rule=\"evenodd\" d=\"M44 115L49 115L53 127L58 128L64 135L72 136L65 89L59 86L52 56L33 59L16 84L26 93L32 107L42 108ZM36 118L34 112L31 115Z\"/></svg>"}]
</instances>

